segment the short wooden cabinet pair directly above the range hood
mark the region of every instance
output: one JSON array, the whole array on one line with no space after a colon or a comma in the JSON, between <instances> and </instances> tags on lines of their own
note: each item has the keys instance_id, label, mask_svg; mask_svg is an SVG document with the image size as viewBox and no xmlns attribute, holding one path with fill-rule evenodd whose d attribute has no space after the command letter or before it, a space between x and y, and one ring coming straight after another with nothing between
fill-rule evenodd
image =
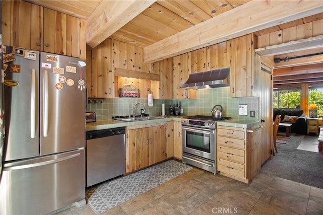
<instances>
[{"instance_id":1,"label":"short wooden cabinet pair directly above the range hood","mask_svg":"<svg viewBox=\"0 0 323 215\"><path fill-rule=\"evenodd\" d=\"M230 42L214 44L191 52L191 72L230 67Z\"/></svg>"}]
</instances>

